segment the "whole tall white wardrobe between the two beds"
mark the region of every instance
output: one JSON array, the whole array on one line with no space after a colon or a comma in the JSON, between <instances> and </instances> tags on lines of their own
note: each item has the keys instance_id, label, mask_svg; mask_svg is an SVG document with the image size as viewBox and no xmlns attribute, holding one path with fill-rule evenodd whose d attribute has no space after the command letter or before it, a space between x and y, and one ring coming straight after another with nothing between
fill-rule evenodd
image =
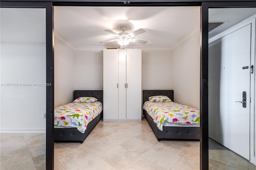
<instances>
[{"instance_id":1,"label":"whole tall white wardrobe between the two beds","mask_svg":"<svg viewBox=\"0 0 256 170\"><path fill-rule=\"evenodd\" d=\"M141 49L104 49L103 120L141 120Z\"/></svg>"}]
</instances>

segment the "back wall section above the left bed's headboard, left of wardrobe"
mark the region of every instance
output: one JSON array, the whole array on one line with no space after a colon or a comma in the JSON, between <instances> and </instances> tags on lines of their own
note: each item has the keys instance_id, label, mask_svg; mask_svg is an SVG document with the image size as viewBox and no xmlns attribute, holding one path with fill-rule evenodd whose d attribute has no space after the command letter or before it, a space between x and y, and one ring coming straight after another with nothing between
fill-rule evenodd
<instances>
[{"instance_id":1,"label":"back wall section above the left bed's headboard, left of wardrobe","mask_svg":"<svg viewBox=\"0 0 256 170\"><path fill-rule=\"evenodd\" d=\"M103 51L75 51L74 90L103 90Z\"/></svg>"}]
</instances>

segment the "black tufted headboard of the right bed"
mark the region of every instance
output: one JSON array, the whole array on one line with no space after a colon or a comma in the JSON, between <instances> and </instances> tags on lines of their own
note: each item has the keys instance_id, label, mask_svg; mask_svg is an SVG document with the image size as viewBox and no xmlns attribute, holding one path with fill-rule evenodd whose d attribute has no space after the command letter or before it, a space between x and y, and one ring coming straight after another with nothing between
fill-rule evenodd
<instances>
[{"instance_id":1,"label":"black tufted headboard of the right bed","mask_svg":"<svg viewBox=\"0 0 256 170\"><path fill-rule=\"evenodd\" d=\"M148 97L150 96L167 96L174 102L173 90L143 90L143 104L148 101Z\"/></svg>"}]
</instances>

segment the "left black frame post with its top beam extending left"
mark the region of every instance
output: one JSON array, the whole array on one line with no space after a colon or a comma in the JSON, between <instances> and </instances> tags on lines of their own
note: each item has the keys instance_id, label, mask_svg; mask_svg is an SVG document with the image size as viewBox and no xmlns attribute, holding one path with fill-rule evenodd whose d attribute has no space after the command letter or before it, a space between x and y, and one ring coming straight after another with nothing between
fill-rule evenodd
<instances>
[{"instance_id":1,"label":"left black frame post with its top beam extending left","mask_svg":"<svg viewBox=\"0 0 256 170\"><path fill-rule=\"evenodd\" d=\"M54 39L52 2L1 1L0 8L45 8L46 9L46 169L54 169Z\"/></svg>"}]
</instances>

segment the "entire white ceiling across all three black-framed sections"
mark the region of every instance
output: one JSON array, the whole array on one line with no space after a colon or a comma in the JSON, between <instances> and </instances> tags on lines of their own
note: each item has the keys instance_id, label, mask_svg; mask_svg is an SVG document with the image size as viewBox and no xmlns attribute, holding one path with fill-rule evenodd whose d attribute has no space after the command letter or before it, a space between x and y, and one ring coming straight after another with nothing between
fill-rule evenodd
<instances>
[{"instance_id":1,"label":"entire white ceiling across all three black-framed sections","mask_svg":"<svg viewBox=\"0 0 256 170\"><path fill-rule=\"evenodd\" d=\"M228 21L209 33L213 37L256 14L256 8L209 9L209 21ZM1 42L45 43L45 9L0 8ZM119 47L116 39L104 29L127 32L143 28L134 38L148 41L146 45L130 43L127 47L172 49L200 25L200 7L54 7L54 33L74 48Z\"/></svg>"}]
</instances>

